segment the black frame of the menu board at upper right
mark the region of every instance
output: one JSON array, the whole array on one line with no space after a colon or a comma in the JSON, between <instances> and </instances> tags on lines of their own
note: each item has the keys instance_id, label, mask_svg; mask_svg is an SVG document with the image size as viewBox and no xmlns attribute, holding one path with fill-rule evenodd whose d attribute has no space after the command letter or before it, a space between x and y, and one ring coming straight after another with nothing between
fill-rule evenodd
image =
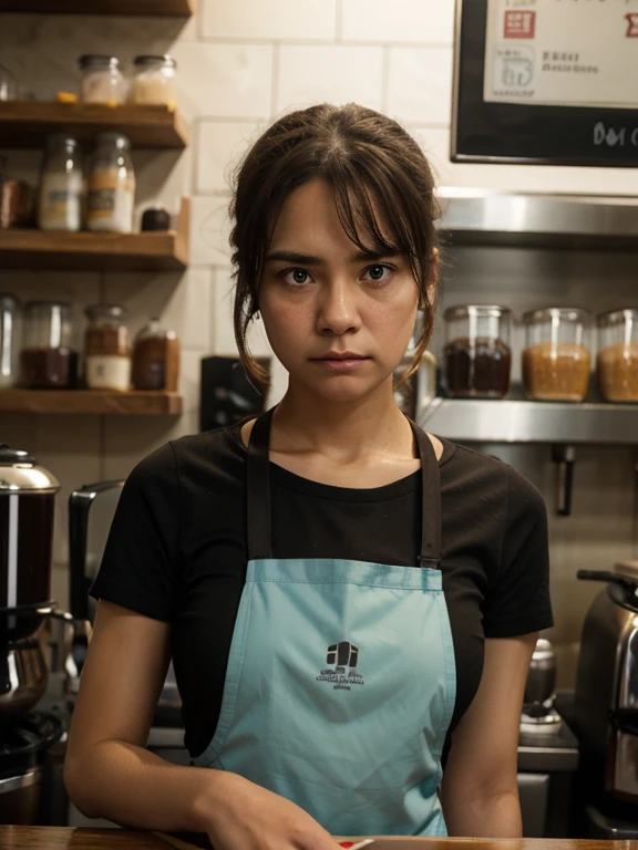
<instances>
[{"instance_id":1,"label":"black frame of the menu board at upper right","mask_svg":"<svg viewBox=\"0 0 638 850\"><path fill-rule=\"evenodd\" d=\"M456 0L454 162L638 167L636 108L486 102L486 23L487 0Z\"/></svg>"}]
</instances>

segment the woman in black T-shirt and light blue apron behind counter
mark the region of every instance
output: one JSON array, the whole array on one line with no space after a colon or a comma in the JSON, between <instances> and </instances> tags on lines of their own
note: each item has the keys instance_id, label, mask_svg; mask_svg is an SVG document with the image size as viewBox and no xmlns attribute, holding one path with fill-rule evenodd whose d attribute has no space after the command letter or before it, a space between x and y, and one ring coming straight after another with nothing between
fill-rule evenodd
<instances>
[{"instance_id":1,"label":"woman in black T-shirt and light blue apron behind counter","mask_svg":"<svg viewBox=\"0 0 638 850\"><path fill-rule=\"evenodd\" d=\"M239 352L258 379L259 312L289 387L132 473L92 590L69 792L217 850L519 836L546 514L513 469L394 403L418 310L414 369L433 322L428 162L377 112L313 106L257 141L230 211ZM191 767L144 748L171 655Z\"/></svg>"}]
</instances>

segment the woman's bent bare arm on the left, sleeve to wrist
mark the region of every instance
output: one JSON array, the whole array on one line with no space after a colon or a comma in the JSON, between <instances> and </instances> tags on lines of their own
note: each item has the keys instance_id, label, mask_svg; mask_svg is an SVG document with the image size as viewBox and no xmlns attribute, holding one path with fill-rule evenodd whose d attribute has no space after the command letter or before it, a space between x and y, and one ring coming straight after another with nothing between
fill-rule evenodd
<instances>
[{"instance_id":1,"label":"woman's bent bare arm on the left, sleeve to wrist","mask_svg":"<svg viewBox=\"0 0 638 850\"><path fill-rule=\"evenodd\" d=\"M169 626L101 601L73 712L64 782L88 817L172 830L200 828L194 801L218 771L171 765L145 749L169 660Z\"/></svg>"}]
</instances>

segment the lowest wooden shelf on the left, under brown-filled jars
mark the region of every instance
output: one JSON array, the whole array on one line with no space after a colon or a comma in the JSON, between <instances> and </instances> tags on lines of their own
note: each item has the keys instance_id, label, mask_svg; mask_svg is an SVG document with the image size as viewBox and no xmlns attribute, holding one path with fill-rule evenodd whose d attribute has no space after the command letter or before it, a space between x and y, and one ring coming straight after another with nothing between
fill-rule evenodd
<instances>
[{"instance_id":1,"label":"lowest wooden shelf on the left, under brown-filled jars","mask_svg":"<svg viewBox=\"0 0 638 850\"><path fill-rule=\"evenodd\" d=\"M178 416L182 396L103 390L0 390L0 413Z\"/></svg>"}]
</instances>

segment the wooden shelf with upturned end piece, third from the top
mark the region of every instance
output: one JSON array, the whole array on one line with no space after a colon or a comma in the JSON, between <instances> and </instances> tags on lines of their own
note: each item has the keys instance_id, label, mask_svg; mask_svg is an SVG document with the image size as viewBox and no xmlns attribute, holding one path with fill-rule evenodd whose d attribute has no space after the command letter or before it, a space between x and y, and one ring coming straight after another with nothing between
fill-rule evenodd
<instances>
[{"instance_id":1,"label":"wooden shelf with upturned end piece, third from the top","mask_svg":"<svg viewBox=\"0 0 638 850\"><path fill-rule=\"evenodd\" d=\"M59 234L1 230L0 269L181 271L188 265L188 198L177 230L144 234Z\"/></svg>"}]
</instances>

